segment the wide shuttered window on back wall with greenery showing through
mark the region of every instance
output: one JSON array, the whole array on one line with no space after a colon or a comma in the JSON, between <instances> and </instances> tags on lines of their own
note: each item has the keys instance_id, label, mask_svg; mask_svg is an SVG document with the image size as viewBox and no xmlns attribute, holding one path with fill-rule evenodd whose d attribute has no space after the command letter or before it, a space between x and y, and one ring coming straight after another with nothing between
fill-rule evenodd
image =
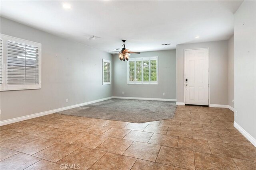
<instances>
[{"instance_id":1,"label":"wide shuttered window on back wall with greenery showing through","mask_svg":"<svg viewBox=\"0 0 256 170\"><path fill-rule=\"evenodd\" d=\"M130 58L127 84L158 84L158 57Z\"/></svg>"}]
</instances>

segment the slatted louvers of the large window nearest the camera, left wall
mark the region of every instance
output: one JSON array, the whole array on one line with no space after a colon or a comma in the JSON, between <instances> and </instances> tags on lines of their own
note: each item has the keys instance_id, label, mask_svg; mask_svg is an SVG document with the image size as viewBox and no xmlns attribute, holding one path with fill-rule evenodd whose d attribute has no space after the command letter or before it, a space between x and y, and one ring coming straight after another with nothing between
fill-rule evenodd
<instances>
[{"instance_id":1,"label":"slatted louvers of the large window nearest the camera, left wall","mask_svg":"<svg viewBox=\"0 0 256 170\"><path fill-rule=\"evenodd\" d=\"M7 84L39 84L38 47L7 41Z\"/></svg>"}]
</instances>

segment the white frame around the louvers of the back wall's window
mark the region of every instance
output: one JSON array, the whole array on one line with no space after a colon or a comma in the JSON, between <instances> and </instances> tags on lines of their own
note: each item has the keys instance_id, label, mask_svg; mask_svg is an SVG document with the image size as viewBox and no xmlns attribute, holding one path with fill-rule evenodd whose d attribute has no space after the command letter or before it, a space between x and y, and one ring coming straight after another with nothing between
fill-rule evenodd
<instances>
[{"instance_id":1,"label":"white frame around the louvers of the back wall's window","mask_svg":"<svg viewBox=\"0 0 256 170\"><path fill-rule=\"evenodd\" d=\"M156 82L152 82L152 81L148 81L148 82L143 82L143 81L129 81L129 62L130 61L142 61L142 70L141 70L141 76L142 76L142 80L143 80L143 61L148 60L149 61L149 65L150 65L150 60L156 60ZM149 68L150 69L150 68ZM136 65L134 63L134 80L136 80ZM131 85L158 85L158 79L159 79L159 75L158 75L158 56L155 57L137 57L137 58L130 58L127 62L127 84ZM149 74L149 80L150 80L150 74Z\"/></svg>"}]
</instances>

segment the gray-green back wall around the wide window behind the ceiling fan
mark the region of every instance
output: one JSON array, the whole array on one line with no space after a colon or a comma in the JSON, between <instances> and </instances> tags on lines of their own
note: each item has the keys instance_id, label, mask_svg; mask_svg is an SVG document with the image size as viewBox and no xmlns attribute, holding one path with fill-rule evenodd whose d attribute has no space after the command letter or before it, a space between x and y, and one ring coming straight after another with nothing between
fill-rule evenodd
<instances>
[{"instance_id":1,"label":"gray-green back wall around the wide window behind the ceiling fan","mask_svg":"<svg viewBox=\"0 0 256 170\"><path fill-rule=\"evenodd\" d=\"M176 50L143 52L130 58L154 56L158 56L159 85L128 85L127 62L113 55L113 96L176 99Z\"/></svg>"}]
</instances>

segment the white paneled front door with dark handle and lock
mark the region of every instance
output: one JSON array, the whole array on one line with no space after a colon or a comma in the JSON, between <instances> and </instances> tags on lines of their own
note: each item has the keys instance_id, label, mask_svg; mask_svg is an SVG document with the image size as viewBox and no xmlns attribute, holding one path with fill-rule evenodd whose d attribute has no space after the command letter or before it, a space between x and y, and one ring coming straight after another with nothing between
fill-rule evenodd
<instances>
[{"instance_id":1,"label":"white paneled front door with dark handle and lock","mask_svg":"<svg viewBox=\"0 0 256 170\"><path fill-rule=\"evenodd\" d=\"M185 104L208 103L208 49L185 50Z\"/></svg>"}]
</instances>

